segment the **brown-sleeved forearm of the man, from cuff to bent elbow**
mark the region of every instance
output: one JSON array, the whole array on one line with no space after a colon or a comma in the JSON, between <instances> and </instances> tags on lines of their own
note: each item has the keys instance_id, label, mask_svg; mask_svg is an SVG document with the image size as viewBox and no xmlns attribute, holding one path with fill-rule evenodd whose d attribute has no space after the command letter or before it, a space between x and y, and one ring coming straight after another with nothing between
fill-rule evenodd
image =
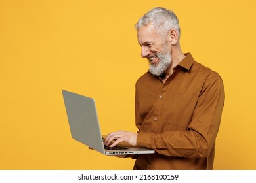
<instances>
[{"instance_id":1,"label":"brown-sleeved forearm of the man, from cuff to bent elbow","mask_svg":"<svg viewBox=\"0 0 256 183\"><path fill-rule=\"evenodd\" d=\"M194 131L139 133L137 144L152 148L165 156L187 158L205 157L211 150L205 138Z\"/></svg>"}]
</instances>

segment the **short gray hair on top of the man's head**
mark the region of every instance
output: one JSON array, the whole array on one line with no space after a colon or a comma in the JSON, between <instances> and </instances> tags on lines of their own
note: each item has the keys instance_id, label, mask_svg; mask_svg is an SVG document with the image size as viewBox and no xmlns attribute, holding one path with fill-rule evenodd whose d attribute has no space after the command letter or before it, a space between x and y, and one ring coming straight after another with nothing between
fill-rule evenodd
<instances>
[{"instance_id":1,"label":"short gray hair on top of the man's head","mask_svg":"<svg viewBox=\"0 0 256 183\"><path fill-rule=\"evenodd\" d=\"M179 20L171 10L161 7L153 8L139 19L137 24L135 24L135 29L139 30L142 26L147 26L151 23L161 33L167 33L169 30L175 29L179 35L181 34Z\"/></svg>"}]
</instances>

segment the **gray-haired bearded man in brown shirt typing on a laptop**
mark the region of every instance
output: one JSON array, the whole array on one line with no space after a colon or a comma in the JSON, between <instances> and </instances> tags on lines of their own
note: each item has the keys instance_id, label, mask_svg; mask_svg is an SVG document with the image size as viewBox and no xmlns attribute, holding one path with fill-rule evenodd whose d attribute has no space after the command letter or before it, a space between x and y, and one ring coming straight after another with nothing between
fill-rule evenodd
<instances>
[{"instance_id":1,"label":"gray-haired bearded man in brown shirt typing on a laptop","mask_svg":"<svg viewBox=\"0 0 256 183\"><path fill-rule=\"evenodd\" d=\"M152 148L135 158L134 169L213 169L215 139L224 106L218 73L183 54L174 12L154 8L135 25L141 56L150 69L136 83L137 133L110 133L119 142Z\"/></svg>"}]
</instances>

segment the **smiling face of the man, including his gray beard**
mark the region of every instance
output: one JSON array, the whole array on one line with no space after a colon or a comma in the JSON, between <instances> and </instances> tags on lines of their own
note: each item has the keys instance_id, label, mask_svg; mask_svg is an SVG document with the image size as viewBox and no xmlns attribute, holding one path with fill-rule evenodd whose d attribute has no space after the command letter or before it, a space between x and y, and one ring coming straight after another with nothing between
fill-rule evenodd
<instances>
[{"instance_id":1,"label":"smiling face of the man, including his gray beard","mask_svg":"<svg viewBox=\"0 0 256 183\"><path fill-rule=\"evenodd\" d=\"M171 65L171 45L167 35L163 36L153 25L147 25L137 31L137 39L142 58L147 58L150 63L150 73L162 75Z\"/></svg>"}]
</instances>

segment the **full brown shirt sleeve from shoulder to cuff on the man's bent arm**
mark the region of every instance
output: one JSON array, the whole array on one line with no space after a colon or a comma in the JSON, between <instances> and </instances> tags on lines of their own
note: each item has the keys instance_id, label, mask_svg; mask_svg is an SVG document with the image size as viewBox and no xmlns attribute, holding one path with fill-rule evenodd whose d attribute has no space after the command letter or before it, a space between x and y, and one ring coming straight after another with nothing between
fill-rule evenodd
<instances>
[{"instance_id":1,"label":"full brown shirt sleeve from shoulder to cuff on the man's bent arm","mask_svg":"<svg viewBox=\"0 0 256 183\"><path fill-rule=\"evenodd\" d=\"M203 84L192 120L186 131L165 131L163 133L139 131L137 144L152 148L158 154L165 156L187 158L209 156L219 131L223 106L223 81L220 76L210 75ZM140 128L139 114L136 118L136 125Z\"/></svg>"}]
</instances>

